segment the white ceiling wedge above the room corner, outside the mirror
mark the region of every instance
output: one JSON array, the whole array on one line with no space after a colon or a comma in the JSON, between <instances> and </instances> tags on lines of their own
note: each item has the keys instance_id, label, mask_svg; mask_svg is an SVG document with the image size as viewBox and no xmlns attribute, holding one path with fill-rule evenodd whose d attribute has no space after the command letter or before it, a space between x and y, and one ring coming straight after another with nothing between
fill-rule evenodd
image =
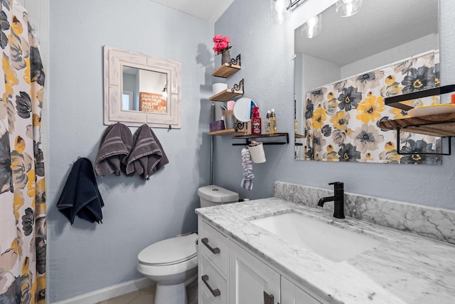
<instances>
[{"instance_id":1,"label":"white ceiling wedge above the room corner, outside the mirror","mask_svg":"<svg viewBox=\"0 0 455 304\"><path fill-rule=\"evenodd\" d=\"M215 23L234 0L150 0Z\"/></svg>"}]
</instances>

